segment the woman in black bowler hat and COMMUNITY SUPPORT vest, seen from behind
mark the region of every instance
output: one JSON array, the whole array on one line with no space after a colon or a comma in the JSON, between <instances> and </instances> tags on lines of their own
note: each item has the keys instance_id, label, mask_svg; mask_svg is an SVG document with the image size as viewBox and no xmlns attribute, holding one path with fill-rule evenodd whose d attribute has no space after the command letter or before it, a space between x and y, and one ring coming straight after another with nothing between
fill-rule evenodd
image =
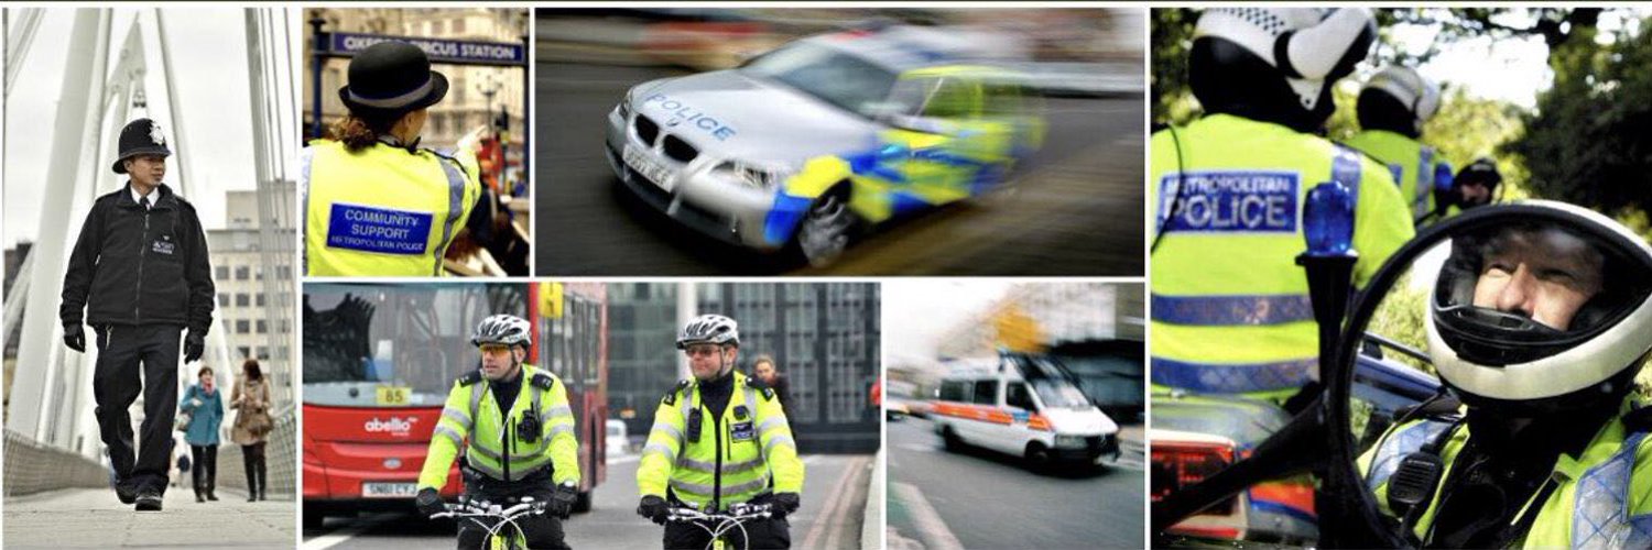
<instances>
[{"instance_id":1,"label":"woman in black bowler hat and COMMUNITY SUPPORT vest, seen from behind","mask_svg":"<svg viewBox=\"0 0 1652 550\"><path fill-rule=\"evenodd\" d=\"M350 59L349 79L339 99L350 112L301 157L304 273L441 276L482 197L474 137L453 157L418 147L448 78L418 46L383 41Z\"/></svg>"}]
</instances>

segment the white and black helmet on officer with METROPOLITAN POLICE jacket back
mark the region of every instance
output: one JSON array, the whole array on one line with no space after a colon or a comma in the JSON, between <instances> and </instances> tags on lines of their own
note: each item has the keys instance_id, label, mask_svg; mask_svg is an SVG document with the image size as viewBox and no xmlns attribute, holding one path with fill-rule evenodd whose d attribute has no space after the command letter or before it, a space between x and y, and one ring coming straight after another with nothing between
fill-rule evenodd
<instances>
[{"instance_id":1,"label":"white and black helmet on officer with METROPOLITAN POLICE jacket back","mask_svg":"<svg viewBox=\"0 0 1652 550\"><path fill-rule=\"evenodd\" d=\"M1368 8L1209 8L1193 30L1188 81L1208 112L1318 129L1332 84L1371 53Z\"/></svg>"}]
</instances>

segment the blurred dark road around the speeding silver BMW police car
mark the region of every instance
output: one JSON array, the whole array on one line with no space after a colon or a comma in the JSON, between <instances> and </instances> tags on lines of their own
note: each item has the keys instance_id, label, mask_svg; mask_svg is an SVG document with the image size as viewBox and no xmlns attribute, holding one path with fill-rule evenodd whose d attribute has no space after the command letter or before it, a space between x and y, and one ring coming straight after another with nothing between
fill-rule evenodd
<instances>
[{"instance_id":1,"label":"blurred dark road around the speeding silver BMW police car","mask_svg":"<svg viewBox=\"0 0 1652 550\"><path fill-rule=\"evenodd\" d=\"M545 21L540 21L540 33ZM1049 99L1044 149L1013 173L1013 192L884 228L829 269L805 269L700 236L620 188L603 159L608 111L634 84L682 69L540 43L535 64L539 274L998 274L1143 273L1140 97Z\"/></svg>"}]
</instances>

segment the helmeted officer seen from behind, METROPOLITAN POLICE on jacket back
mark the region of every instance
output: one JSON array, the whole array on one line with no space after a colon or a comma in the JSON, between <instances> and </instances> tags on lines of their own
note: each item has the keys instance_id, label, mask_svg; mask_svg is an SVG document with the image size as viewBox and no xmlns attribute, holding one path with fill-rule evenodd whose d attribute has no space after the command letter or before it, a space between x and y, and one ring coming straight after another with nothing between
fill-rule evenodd
<instances>
[{"instance_id":1,"label":"helmeted officer seen from behind, METROPOLITAN POLICE on jacket back","mask_svg":"<svg viewBox=\"0 0 1652 550\"><path fill-rule=\"evenodd\" d=\"M1355 200L1360 286L1414 235L1388 168L1312 132L1366 56L1366 8L1211 8L1193 94L1206 116L1153 134L1153 383L1282 401L1317 373L1300 210L1336 182Z\"/></svg>"}]
</instances>

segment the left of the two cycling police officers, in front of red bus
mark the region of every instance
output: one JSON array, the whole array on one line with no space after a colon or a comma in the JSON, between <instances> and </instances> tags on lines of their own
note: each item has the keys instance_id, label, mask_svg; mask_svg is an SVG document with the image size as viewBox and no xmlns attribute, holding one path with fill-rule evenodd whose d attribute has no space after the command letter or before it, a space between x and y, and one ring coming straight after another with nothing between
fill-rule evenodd
<instances>
[{"instance_id":1,"label":"left of the two cycling police officers, in front of red bus","mask_svg":"<svg viewBox=\"0 0 1652 550\"><path fill-rule=\"evenodd\" d=\"M530 548L567 548L558 519L568 519L578 499L580 443L567 386L557 375L522 363L530 330L515 315L491 315L476 325L471 344L481 348L482 365L448 393L420 471L416 504L425 515L444 509L439 491L463 448L466 499L548 502L548 515L529 515L517 525ZM474 522L461 522L459 548L481 547L484 535Z\"/></svg>"}]
</instances>

